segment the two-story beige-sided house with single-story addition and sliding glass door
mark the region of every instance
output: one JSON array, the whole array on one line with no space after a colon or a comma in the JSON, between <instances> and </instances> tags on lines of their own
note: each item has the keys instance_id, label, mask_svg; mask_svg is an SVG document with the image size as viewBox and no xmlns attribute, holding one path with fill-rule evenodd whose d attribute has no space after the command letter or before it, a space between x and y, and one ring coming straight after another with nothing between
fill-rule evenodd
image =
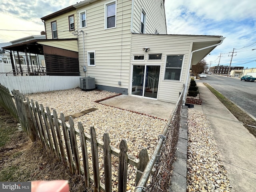
<instances>
[{"instance_id":1,"label":"two-story beige-sided house with single-story addition and sliding glass door","mask_svg":"<svg viewBox=\"0 0 256 192\"><path fill-rule=\"evenodd\" d=\"M45 58L60 54L55 48L77 52L72 68L94 77L98 89L167 102L187 89L191 66L224 40L167 34L164 0L84 0L41 19L47 41L38 44L52 48L43 48ZM47 72L58 66L66 63L46 59Z\"/></svg>"}]
</instances>

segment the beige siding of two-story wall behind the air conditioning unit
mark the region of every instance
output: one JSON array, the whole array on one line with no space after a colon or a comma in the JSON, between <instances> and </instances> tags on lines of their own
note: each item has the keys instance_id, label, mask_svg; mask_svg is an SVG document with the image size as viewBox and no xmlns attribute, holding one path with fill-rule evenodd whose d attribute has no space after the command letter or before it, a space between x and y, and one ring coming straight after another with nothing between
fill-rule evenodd
<instances>
[{"instance_id":1,"label":"beige siding of two-story wall behind the air conditioning unit","mask_svg":"<svg viewBox=\"0 0 256 192\"><path fill-rule=\"evenodd\" d=\"M83 34L78 36L79 64L81 76L95 78L95 83L103 86L128 88L131 50L131 1L117 1L116 28L105 29L105 4L111 1L96 1L77 9L77 25L80 26L79 13L86 11L86 27L78 28ZM85 50L85 60L83 59ZM95 66L87 66L88 51L95 51ZM83 72L82 66L87 66ZM121 81L121 86L118 85Z\"/></svg>"}]
</instances>

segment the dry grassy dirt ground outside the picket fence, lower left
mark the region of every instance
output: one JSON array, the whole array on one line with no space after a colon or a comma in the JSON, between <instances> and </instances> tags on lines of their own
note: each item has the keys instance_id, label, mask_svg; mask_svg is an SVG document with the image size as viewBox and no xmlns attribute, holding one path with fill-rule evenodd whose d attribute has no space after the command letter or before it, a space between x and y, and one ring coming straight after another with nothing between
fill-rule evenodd
<instances>
[{"instance_id":1,"label":"dry grassy dirt ground outside the picket fence, lower left","mask_svg":"<svg viewBox=\"0 0 256 192\"><path fill-rule=\"evenodd\" d=\"M68 180L70 191L89 192L83 178L69 172L62 162L38 142L18 130L17 121L0 106L0 181Z\"/></svg>"}]
</instances>

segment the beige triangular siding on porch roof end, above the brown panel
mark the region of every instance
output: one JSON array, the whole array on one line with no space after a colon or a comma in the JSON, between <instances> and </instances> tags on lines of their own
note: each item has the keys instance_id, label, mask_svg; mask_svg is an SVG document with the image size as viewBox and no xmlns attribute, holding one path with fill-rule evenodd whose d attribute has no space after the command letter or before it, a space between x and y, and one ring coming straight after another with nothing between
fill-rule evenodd
<instances>
[{"instance_id":1,"label":"beige triangular siding on porch roof end, above the brown panel","mask_svg":"<svg viewBox=\"0 0 256 192\"><path fill-rule=\"evenodd\" d=\"M70 51L78 52L77 47L77 40L70 40L70 41L45 41L45 42L38 42L38 44L57 47L61 49L66 49Z\"/></svg>"}]
</instances>

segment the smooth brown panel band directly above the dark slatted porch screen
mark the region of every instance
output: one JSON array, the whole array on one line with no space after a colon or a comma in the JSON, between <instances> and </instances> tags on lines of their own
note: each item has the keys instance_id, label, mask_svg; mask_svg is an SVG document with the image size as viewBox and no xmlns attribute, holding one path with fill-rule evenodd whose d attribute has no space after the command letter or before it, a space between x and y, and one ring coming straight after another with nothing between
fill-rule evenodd
<instances>
[{"instance_id":1,"label":"smooth brown panel band directly above the dark slatted porch screen","mask_svg":"<svg viewBox=\"0 0 256 192\"><path fill-rule=\"evenodd\" d=\"M43 48L44 48L44 54L78 58L78 52L75 52L75 51L70 51L70 50L46 46L46 45L44 45Z\"/></svg>"}]
</instances>

